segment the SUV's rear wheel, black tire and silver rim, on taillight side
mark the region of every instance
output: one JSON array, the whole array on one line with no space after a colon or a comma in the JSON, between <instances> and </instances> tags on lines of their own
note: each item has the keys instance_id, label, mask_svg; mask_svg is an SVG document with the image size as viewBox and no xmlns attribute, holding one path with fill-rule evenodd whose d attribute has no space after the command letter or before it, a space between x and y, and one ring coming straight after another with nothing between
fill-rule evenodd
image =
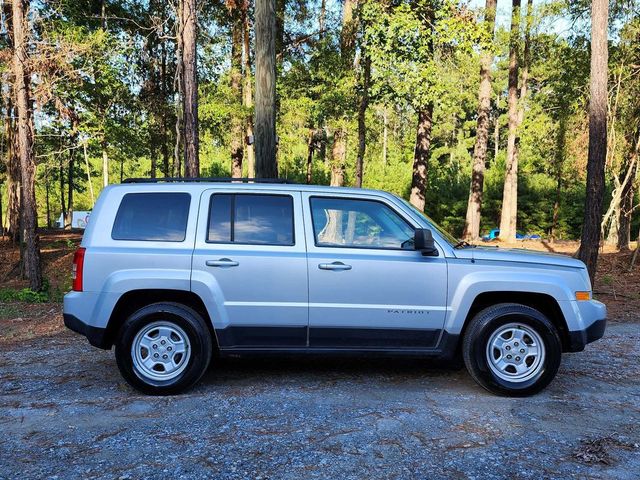
<instances>
[{"instance_id":1,"label":"SUV's rear wheel, black tire and silver rim, on taillight side","mask_svg":"<svg viewBox=\"0 0 640 480\"><path fill-rule=\"evenodd\" d=\"M212 349L203 318L189 307L167 302L131 315L120 329L115 354L131 386L152 395L172 395L200 380Z\"/></svg>"}]
</instances>

